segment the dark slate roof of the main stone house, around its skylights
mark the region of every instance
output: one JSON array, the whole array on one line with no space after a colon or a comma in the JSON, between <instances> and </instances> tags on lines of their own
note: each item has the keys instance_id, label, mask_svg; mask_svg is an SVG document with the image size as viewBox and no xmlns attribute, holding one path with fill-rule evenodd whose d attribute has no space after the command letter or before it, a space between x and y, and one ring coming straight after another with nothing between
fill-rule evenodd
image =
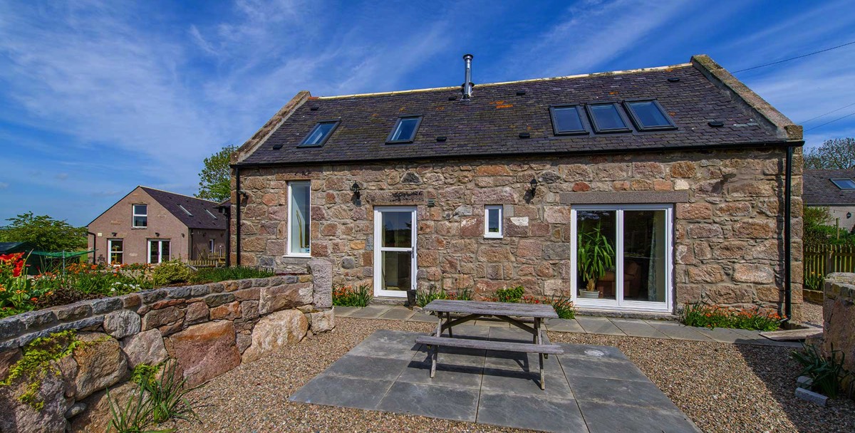
<instances>
[{"instance_id":1,"label":"dark slate roof of the main stone house, around its skylights","mask_svg":"<svg viewBox=\"0 0 855 433\"><path fill-rule=\"evenodd\" d=\"M679 81L669 81L675 78ZM526 93L517 96L517 91ZM597 153L785 141L776 135L774 126L758 119L757 112L731 94L687 63L627 73L476 84L468 101L460 98L459 88L310 97L238 165ZM449 100L452 97L455 100ZM552 133L551 105L633 98L657 99L678 129L559 137ZM415 142L386 144L398 117L407 114L423 116ZM312 127L323 120L340 120L327 143L321 148L298 149ZM711 120L720 120L724 126L709 126ZM531 138L519 138L520 132L529 132ZM438 136L447 141L438 143ZM273 149L276 144L281 149Z\"/></svg>"}]
</instances>

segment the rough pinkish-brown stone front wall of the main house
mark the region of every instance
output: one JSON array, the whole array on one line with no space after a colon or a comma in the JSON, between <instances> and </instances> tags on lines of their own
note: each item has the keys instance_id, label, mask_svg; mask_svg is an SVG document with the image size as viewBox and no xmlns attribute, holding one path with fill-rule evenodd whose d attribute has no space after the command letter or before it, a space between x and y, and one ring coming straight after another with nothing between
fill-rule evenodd
<instances>
[{"instance_id":1,"label":"rough pinkish-brown stone front wall of the main house","mask_svg":"<svg viewBox=\"0 0 855 433\"><path fill-rule=\"evenodd\" d=\"M292 266L299 261L283 257L287 182L310 179L311 255L333 261L336 283L372 280L374 206L416 205L420 289L468 288L483 295L520 284L531 294L569 294L575 289L569 274L571 203L597 195L607 200L670 197L675 202L675 305L706 301L777 307L783 301L785 152L740 149L243 168L241 262ZM798 149L794 160L793 302L798 313ZM534 194L529 192L532 178L539 181ZM351 192L354 182L361 187L361 206ZM503 238L483 236L488 204L504 205ZM233 208L233 216L237 212ZM235 229L233 225L233 236ZM232 241L237 251L235 237Z\"/></svg>"}]
</instances>

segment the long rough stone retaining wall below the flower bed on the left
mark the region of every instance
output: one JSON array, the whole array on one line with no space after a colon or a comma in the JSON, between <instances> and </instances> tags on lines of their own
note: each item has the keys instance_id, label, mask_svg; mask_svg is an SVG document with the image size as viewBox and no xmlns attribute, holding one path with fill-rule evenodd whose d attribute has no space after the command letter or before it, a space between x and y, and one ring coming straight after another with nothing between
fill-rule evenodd
<instances>
[{"instance_id":1,"label":"long rough stone retaining wall below the flower bed on the left","mask_svg":"<svg viewBox=\"0 0 855 433\"><path fill-rule=\"evenodd\" d=\"M310 260L300 274L147 290L0 320L0 380L40 336L77 330L85 348L53 362L38 389L44 408L18 401L26 383L0 387L0 431L107 429L106 389L119 401L139 364L177 362L190 386L204 383L334 326L332 266Z\"/></svg>"}]
</instances>

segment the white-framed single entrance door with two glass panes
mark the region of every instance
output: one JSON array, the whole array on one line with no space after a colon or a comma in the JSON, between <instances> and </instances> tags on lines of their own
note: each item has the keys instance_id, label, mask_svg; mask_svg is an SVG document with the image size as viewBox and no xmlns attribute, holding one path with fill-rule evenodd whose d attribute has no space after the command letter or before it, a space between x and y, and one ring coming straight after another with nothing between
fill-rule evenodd
<instances>
[{"instance_id":1,"label":"white-framed single entrance door with two glass panes","mask_svg":"<svg viewBox=\"0 0 855 433\"><path fill-rule=\"evenodd\" d=\"M416 208L374 208L374 295L416 289Z\"/></svg>"}]
</instances>

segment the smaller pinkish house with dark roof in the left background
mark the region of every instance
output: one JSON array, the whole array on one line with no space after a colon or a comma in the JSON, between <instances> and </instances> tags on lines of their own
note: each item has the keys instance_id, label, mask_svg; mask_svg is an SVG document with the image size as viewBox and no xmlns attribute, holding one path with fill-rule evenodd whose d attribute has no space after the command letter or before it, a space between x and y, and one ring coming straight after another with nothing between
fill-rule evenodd
<instances>
[{"instance_id":1,"label":"smaller pinkish house with dark roof in the left background","mask_svg":"<svg viewBox=\"0 0 855 433\"><path fill-rule=\"evenodd\" d=\"M219 203L138 186L93 219L95 261L161 263L225 255L227 215Z\"/></svg>"}]
</instances>

